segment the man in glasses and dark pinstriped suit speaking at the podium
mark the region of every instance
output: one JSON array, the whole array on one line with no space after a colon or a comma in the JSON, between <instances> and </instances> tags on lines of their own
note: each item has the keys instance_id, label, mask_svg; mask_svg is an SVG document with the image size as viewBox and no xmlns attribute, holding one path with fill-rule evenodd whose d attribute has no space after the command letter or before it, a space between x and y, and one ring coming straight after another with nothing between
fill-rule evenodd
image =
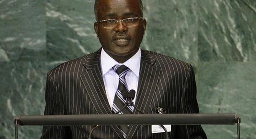
<instances>
[{"instance_id":1,"label":"man in glasses and dark pinstriped suit speaking at the podium","mask_svg":"<svg viewBox=\"0 0 256 139\"><path fill-rule=\"evenodd\" d=\"M97 52L65 62L47 74L45 115L112 114L120 110L120 86L135 90L133 100L144 113L199 113L192 66L141 50L146 29L141 0L96 0ZM125 77L116 71L125 65ZM119 99L119 100L118 100ZM131 112L139 112L133 107ZM127 111L129 109L127 108ZM92 125L44 126L42 139L88 138ZM172 139L205 139L199 125L172 125ZM101 125L93 138L164 138L150 125Z\"/></svg>"}]
</instances>

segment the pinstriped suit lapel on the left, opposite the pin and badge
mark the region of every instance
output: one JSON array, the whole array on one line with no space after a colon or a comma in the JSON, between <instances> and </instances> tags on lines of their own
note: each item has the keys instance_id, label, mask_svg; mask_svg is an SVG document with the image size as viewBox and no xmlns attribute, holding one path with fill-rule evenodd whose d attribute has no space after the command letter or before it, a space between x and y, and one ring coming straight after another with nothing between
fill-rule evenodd
<instances>
[{"instance_id":1,"label":"pinstriped suit lapel on the left, opposite the pin and badge","mask_svg":"<svg viewBox=\"0 0 256 139\"><path fill-rule=\"evenodd\" d=\"M83 65L87 70L80 75L80 78L97 113L112 114L102 79L100 52L101 49L85 58ZM123 138L117 125L111 125L111 128L120 138Z\"/></svg>"}]
</instances>

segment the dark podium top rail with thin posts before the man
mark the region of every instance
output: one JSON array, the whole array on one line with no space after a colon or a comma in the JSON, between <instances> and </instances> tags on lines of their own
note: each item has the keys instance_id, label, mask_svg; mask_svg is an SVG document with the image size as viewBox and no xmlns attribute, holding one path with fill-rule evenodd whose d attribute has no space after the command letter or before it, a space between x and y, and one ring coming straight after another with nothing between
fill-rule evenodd
<instances>
[{"instance_id":1,"label":"dark podium top rail with thin posts before the man","mask_svg":"<svg viewBox=\"0 0 256 139\"><path fill-rule=\"evenodd\" d=\"M126 120L123 120L126 119ZM240 116L236 114L87 114L87 115L41 115L14 118L15 138L18 125L234 125L237 123L237 138L240 139Z\"/></svg>"}]
</instances>

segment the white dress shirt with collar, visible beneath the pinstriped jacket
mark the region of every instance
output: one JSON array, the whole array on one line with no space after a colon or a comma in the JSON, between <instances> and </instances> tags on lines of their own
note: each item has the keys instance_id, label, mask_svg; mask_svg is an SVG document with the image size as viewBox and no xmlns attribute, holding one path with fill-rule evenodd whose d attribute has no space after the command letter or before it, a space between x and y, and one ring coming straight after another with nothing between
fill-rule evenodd
<instances>
[{"instance_id":1,"label":"white dress shirt with collar, visible beneath the pinstriped jacket","mask_svg":"<svg viewBox=\"0 0 256 139\"><path fill-rule=\"evenodd\" d=\"M110 108L112 110L115 93L119 83L119 76L112 70L112 67L116 64L125 65L130 70L125 76L125 80L128 86L128 91L135 90L134 104L137 96L138 82L139 82L139 71L140 71L140 59L141 59L141 49L137 53L125 61L124 63L118 63L116 60L111 58L102 48L100 53L100 66L101 73L103 76L104 86L107 93L107 98L109 101Z\"/></svg>"}]
</instances>

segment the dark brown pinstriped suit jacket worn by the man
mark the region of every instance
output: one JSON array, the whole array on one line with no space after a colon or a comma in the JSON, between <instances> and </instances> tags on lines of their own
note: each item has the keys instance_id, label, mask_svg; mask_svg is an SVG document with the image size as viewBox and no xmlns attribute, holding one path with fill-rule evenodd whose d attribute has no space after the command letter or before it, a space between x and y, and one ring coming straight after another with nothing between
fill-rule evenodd
<instances>
[{"instance_id":1,"label":"dark brown pinstriped suit jacket worn by the man","mask_svg":"<svg viewBox=\"0 0 256 139\"><path fill-rule=\"evenodd\" d=\"M100 51L65 62L47 74L45 115L112 114L100 69ZM136 106L145 113L199 113L192 66L180 60L142 50ZM134 110L134 113L139 113ZM41 139L85 139L93 126L44 126ZM127 138L164 139L149 125L132 125ZM200 125L172 125L171 139L205 139ZM103 125L93 138L121 139L118 126Z\"/></svg>"}]
</instances>

